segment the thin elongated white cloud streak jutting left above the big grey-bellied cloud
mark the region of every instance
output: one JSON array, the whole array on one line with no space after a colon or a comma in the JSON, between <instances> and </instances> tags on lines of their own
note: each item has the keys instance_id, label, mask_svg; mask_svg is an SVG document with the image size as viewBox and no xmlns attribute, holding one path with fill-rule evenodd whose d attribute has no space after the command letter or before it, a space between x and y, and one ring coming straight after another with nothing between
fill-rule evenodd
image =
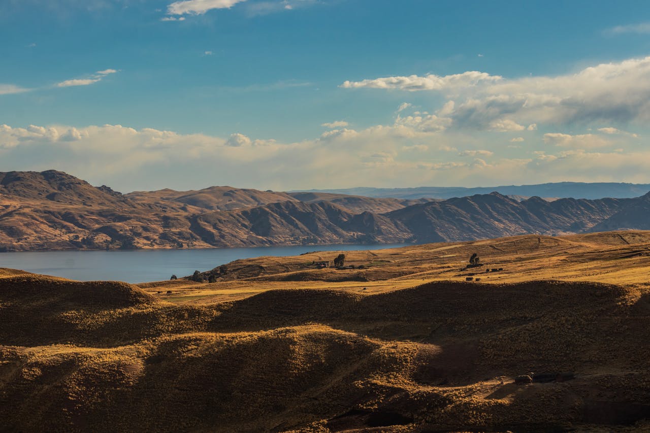
<instances>
[{"instance_id":1,"label":"thin elongated white cloud streak jutting left above the big grey-bellied cloud","mask_svg":"<svg viewBox=\"0 0 650 433\"><path fill-rule=\"evenodd\" d=\"M385 77L377 79L365 79L363 81L345 81L342 88L381 88L408 90L415 92L417 90L446 90L452 88L463 88L467 86L476 86L478 83L489 82L495 83L501 77L498 75L489 75L485 72L468 71L454 75L429 74L424 77L418 75L409 75L408 77Z\"/></svg>"}]
</instances>

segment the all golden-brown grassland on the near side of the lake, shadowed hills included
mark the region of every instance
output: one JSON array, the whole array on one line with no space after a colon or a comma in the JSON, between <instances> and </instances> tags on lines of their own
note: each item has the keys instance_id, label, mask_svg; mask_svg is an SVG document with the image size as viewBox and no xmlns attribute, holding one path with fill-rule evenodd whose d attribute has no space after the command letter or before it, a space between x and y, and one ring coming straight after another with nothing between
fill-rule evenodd
<instances>
[{"instance_id":1,"label":"all golden-brown grassland on the near side of the lake, shadowed hills included","mask_svg":"<svg viewBox=\"0 0 650 433\"><path fill-rule=\"evenodd\" d=\"M0 269L0 430L650 431L650 232L345 254L215 283Z\"/></svg>"}]
</instances>

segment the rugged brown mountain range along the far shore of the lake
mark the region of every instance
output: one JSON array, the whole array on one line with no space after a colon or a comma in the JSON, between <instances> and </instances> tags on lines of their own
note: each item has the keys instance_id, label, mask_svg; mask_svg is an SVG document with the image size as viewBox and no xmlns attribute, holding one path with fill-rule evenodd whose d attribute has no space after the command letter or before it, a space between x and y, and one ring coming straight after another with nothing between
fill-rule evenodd
<instances>
[{"instance_id":1,"label":"rugged brown mountain range along the far shore of the lake","mask_svg":"<svg viewBox=\"0 0 650 433\"><path fill-rule=\"evenodd\" d=\"M499 192L434 200L232 187L120 194L55 170L7 172L0 250L468 241L644 229L649 210L647 194L552 202Z\"/></svg>"}]
</instances>

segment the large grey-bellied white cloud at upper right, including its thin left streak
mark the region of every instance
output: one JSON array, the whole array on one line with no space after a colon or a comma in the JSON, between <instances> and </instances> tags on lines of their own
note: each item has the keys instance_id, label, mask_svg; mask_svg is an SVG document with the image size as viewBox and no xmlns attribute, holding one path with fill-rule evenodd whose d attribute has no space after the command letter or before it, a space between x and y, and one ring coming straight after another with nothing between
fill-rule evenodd
<instances>
[{"instance_id":1,"label":"large grey-bellied white cloud at upper right, including its thin left streak","mask_svg":"<svg viewBox=\"0 0 650 433\"><path fill-rule=\"evenodd\" d=\"M504 118L528 125L528 131L538 124L650 122L650 57L597 64L554 77L506 79L470 71L445 77L346 81L341 87L437 92L446 99L434 114L450 118L447 128L453 129L495 129Z\"/></svg>"}]
</instances>

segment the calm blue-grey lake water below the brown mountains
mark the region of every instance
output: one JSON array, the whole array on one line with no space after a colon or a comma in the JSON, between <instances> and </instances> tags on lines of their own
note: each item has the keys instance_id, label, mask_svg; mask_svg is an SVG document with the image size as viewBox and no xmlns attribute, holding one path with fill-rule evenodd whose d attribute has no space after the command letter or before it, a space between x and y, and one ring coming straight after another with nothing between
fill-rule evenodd
<instances>
[{"instance_id":1,"label":"calm blue-grey lake water below the brown mountains","mask_svg":"<svg viewBox=\"0 0 650 433\"><path fill-rule=\"evenodd\" d=\"M200 250L53 251L0 253L0 268L22 269L71 280L142 283L187 276L233 260L298 256L311 251L382 250L408 244L266 246Z\"/></svg>"}]
</instances>

